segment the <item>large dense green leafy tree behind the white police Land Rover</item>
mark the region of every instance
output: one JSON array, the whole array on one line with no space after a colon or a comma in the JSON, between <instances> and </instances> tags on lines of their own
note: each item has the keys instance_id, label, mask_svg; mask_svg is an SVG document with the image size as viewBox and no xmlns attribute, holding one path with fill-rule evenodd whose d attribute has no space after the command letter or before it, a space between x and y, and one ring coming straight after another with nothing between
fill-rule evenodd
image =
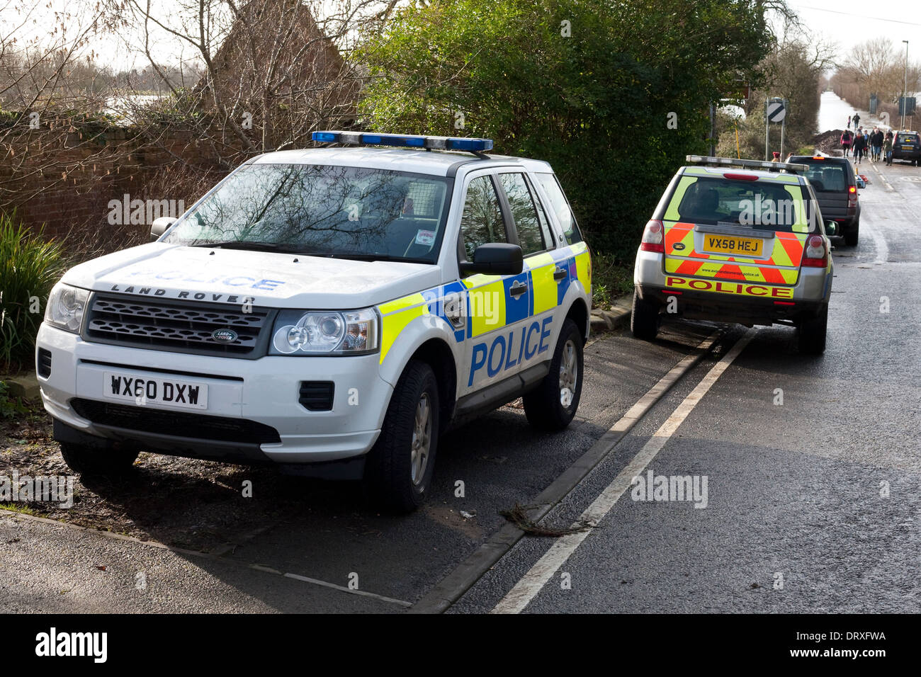
<instances>
[{"instance_id":1,"label":"large dense green leafy tree behind the white police Land Rover","mask_svg":"<svg viewBox=\"0 0 921 677\"><path fill-rule=\"evenodd\" d=\"M632 258L707 110L770 48L742 0L458 0L400 9L355 60L380 131L480 135L549 160L596 248Z\"/></svg>"}]
</instances>

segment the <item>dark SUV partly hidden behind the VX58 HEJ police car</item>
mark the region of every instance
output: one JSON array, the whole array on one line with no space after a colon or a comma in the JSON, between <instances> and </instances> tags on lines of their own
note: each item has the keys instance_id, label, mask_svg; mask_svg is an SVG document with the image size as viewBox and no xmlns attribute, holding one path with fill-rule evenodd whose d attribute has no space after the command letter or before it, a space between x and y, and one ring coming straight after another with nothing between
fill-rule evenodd
<instances>
[{"instance_id":1,"label":"dark SUV partly hidden behind the VX58 HEJ police car","mask_svg":"<svg viewBox=\"0 0 921 677\"><path fill-rule=\"evenodd\" d=\"M787 162L807 165L803 172L812 184L822 217L838 224L838 235L848 247L857 246L860 232L860 203L857 201L857 181L854 167L847 158L791 155Z\"/></svg>"}]
</instances>

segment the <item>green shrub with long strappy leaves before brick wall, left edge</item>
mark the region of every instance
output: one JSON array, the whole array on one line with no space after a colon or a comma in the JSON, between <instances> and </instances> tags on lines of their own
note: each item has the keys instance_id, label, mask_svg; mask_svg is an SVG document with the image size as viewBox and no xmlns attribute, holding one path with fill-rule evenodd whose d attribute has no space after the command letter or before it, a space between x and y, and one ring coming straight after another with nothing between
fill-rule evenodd
<instances>
[{"instance_id":1,"label":"green shrub with long strappy leaves before brick wall, left edge","mask_svg":"<svg viewBox=\"0 0 921 677\"><path fill-rule=\"evenodd\" d=\"M52 286L64 273L61 246L0 214L0 365L31 362Z\"/></svg>"}]
</instances>

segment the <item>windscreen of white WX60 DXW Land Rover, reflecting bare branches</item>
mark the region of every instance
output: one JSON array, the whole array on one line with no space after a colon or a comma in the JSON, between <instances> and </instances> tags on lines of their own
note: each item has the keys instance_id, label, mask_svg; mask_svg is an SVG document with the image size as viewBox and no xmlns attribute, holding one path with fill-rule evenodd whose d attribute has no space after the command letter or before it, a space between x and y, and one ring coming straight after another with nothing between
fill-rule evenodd
<instances>
[{"instance_id":1,"label":"windscreen of white WX60 DXW Land Rover, reflecting bare branches","mask_svg":"<svg viewBox=\"0 0 921 677\"><path fill-rule=\"evenodd\" d=\"M447 179L401 171L249 165L165 241L435 263L449 193Z\"/></svg>"}]
</instances>

